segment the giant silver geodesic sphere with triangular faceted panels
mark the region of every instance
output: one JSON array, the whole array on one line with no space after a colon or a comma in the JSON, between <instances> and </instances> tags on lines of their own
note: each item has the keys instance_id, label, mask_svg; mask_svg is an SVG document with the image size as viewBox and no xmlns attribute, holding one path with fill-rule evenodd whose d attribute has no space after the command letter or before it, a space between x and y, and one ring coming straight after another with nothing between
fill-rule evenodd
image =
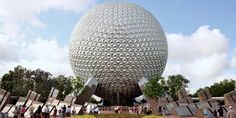
<instances>
[{"instance_id":1,"label":"giant silver geodesic sphere with triangular faceted panels","mask_svg":"<svg viewBox=\"0 0 236 118\"><path fill-rule=\"evenodd\" d=\"M109 99L141 94L138 81L161 75L167 61L165 33L154 16L130 3L105 3L77 23L69 45L76 76L98 80L95 94Z\"/></svg>"}]
</instances>

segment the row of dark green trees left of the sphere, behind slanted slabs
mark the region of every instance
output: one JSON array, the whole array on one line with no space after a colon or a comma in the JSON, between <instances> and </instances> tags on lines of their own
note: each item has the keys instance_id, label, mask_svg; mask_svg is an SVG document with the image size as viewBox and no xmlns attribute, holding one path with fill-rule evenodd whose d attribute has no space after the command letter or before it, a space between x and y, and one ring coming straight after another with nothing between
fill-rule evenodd
<instances>
[{"instance_id":1,"label":"row of dark green trees left of the sphere, behind slanted slabs","mask_svg":"<svg viewBox=\"0 0 236 118\"><path fill-rule=\"evenodd\" d=\"M60 91L58 99L63 100L74 90L79 91L83 87L83 82L80 78L63 75L52 77L51 73L40 69L28 70L17 66L2 76L0 85L13 96L26 96L28 90L34 90L41 94L40 101L45 102L52 87Z\"/></svg>"}]
</instances>

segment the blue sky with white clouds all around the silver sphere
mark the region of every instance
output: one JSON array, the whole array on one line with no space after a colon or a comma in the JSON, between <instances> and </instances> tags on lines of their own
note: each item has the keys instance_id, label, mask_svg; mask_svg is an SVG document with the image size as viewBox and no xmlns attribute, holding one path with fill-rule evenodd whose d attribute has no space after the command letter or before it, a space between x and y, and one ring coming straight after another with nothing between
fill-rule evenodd
<instances>
[{"instance_id":1,"label":"blue sky with white clouds all around the silver sphere","mask_svg":"<svg viewBox=\"0 0 236 118\"><path fill-rule=\"evenodd\" d=\"M112 0L118 1L118 0ZM68 42L80 17L108 0L0 0L0 76L17 65L74 75ZM151 12L168 41L163 76L182 74L188 90L236 79L236 1L122 0Z\"/></svg>"}]
</instances>

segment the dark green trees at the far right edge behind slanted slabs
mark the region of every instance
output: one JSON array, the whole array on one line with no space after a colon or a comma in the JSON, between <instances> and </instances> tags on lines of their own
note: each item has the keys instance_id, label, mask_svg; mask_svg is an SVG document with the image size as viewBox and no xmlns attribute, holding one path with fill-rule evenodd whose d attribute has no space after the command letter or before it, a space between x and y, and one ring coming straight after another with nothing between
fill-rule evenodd
<instances>
[{"instance_id":1,"label":"dark green trees at the far right edge behind slanted slabs","mask_svg":"<svg viewBox=\"0 0 236 118\"><path fill-rule=\"evenodd\" d=\"M224 96L225 93L228 93L234 90L235 80L225 79L219 83L214 83L212 86L207 87L213 97ZM194 96L197 96L197 93L201 91L202 88L198 89Z\"/></svg>"}]
</instances>

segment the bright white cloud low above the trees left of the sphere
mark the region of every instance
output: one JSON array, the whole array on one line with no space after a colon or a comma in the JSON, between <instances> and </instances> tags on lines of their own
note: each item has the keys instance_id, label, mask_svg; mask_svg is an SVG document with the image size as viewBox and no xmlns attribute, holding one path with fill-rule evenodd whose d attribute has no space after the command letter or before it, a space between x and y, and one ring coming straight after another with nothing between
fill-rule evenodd
<instances>
[{"instance_id":1,"label":"bright white cloud low above the trees left of the sphere","mask_svg":"<svg viewBox=\"0 0 236 118\"><path fill-rule=\"evenodd\" d=\"M40 68L51 72L53 75L73 75L69 65L68 48L66 46L60 47L55 39L43 40L37 38L34 42L14 51L14 53L18 55L17 61L4 61L3 58L0 59L0 75L13 69L17 65L29 69ZM8 52L5 57L9 57Z\"/></svg>"}]
</instances>

